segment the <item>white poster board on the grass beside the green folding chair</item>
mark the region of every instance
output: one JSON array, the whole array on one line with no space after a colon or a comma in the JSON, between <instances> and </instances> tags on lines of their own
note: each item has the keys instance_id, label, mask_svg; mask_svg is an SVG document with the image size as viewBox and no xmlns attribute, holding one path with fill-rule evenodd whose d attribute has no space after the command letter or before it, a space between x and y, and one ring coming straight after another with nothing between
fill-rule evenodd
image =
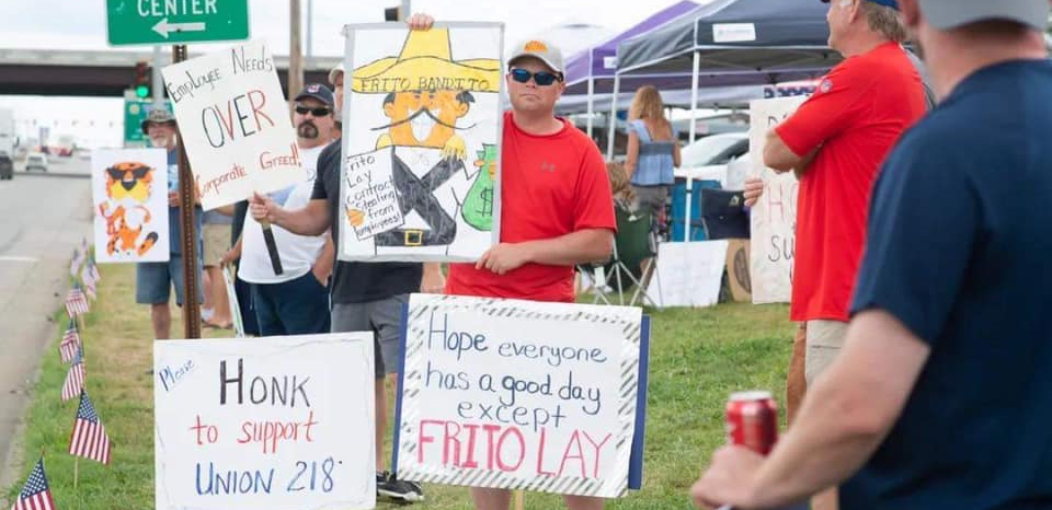
<instances>
[{"instance_id":1,"label":"white poster board on the grass beside the green folding chair","mask_svg":"<svg viewBox=\"0 0 1052 510\"><path fill-rule=\"evenodd\" d=\"M720 281L727 264L727 241L693 241L658 245L658 306L712 306L720 301Z\"/></svg>"}]
</instances>

